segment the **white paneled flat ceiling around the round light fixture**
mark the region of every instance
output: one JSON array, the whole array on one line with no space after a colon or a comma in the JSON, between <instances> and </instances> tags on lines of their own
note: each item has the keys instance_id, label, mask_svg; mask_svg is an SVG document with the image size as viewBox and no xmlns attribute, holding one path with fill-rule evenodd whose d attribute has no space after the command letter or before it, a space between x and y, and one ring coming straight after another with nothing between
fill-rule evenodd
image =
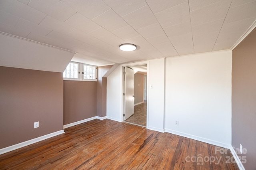
<instances>
[{"instance_id":1,"label":"white paneled flat ceiling around the round light fixture","mask_svg":"<svg viewBox=\"0 0 256 170\"><path fill-rule=\"evenodd\" d=\"M0 32L92 65L230 49L255 21L256 0L0 0Z\"/></svg>"}]
</instances>

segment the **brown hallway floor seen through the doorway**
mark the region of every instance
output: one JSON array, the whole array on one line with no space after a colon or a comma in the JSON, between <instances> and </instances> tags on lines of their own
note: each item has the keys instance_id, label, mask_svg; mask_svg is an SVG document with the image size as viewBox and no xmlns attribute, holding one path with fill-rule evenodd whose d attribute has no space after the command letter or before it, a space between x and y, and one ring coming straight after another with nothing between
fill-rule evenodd
<instances>
[{"instance_id":1,"label":"brown hallway floor seen through the doorway","mask_svg":"<svg viewBox=\"0 0 256 170\"><path fill-rule=\"evenodd\" d=\"M147 125L147 101L140 105L134 106L134 114L125 122L133 123L146 127Z\"/></svg>"}]
</instances>

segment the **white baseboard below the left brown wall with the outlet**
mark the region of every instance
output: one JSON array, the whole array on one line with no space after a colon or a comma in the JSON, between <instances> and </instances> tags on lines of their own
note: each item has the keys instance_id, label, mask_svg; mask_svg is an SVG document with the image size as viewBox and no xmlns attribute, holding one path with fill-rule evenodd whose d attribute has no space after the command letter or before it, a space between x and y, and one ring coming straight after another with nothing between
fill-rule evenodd
<instances>
[{"instance_id":1,"label":"white baseboard below the left brown wall with the outlet","mask_svg":"<svg viewBox=\"0 0 256 170\"><path fill-rule=\"evenodd\" d=\"M57 132L46 134L46 135L40 136L38 138L34 138L34 139L31 139L31 140L27 140L25 142L21 142L21 143L18 143L18 144L14 144L12 146L8 146L6 148L2 148L2 149L0 149L0 154L4 154L6 152L10 152L12 150L22 148L24 146L28 146L28 145L36 143L36 142L40 142L41 140L45 140L45 139L51 138L53 136L57 136L57 135L62 134L62 133L65 133L64 130L59 130Z\"/></svg>"}]
</instances>

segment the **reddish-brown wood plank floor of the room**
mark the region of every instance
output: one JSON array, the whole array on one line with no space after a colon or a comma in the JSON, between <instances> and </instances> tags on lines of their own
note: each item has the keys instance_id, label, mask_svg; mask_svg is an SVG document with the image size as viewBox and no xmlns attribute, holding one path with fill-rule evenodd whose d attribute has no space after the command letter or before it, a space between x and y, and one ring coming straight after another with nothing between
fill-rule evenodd
<instances>
[{"instance_id":1,"label":"reddish-brown wood plank floor of the room","mask_svg":"<svg viewBox=\"0 0 256 170\"><path fill-rule=\"evenodd\" d=\"M65 132L0 155L0 170L238 170L226 162L230 150L128 123L93 120Z\"/></svg>"}]
</instances>

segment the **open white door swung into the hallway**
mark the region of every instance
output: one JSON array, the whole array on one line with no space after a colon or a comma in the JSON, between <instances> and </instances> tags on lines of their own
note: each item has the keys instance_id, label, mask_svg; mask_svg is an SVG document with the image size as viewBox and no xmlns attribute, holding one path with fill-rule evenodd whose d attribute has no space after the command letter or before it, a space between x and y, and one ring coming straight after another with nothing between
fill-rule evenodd
<instances>
[{"instance_id":1,"label":"open white door swung into the hallway","mask_svg":"<svg viewBox=\"0 0 256 170\"><path fill-rule=\"evenodd\" d=\"M134 114L134 70L124 67L124 121Z\"/></svg>"}]
</instances>

